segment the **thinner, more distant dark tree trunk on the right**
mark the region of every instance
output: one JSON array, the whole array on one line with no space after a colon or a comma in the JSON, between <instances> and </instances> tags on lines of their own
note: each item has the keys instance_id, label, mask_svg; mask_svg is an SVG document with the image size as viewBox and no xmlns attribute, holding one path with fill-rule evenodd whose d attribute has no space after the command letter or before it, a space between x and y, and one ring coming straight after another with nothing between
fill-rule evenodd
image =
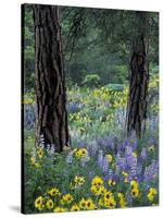
<instances>
[{"instance_id":1,"label":"thinner, more distant dark tree trunk on the right","mask_svg":"<svg viewBox=\"0 0 163 218\"><path fill-rule=\"evenodd\" d=\"M129 95L127 108L127 133L136 131L140 137L142 122L147 117L147 94L149 83L148 44L149 19L148 12L137 12L138 34L133 44L130 60Z\"/></svg>"}]
</instances>

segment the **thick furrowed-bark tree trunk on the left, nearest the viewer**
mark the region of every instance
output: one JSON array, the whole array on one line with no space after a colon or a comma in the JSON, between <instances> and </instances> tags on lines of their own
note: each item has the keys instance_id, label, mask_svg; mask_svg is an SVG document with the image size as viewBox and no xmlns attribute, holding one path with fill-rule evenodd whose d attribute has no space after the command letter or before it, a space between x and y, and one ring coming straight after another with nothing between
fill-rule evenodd
<instances>
[{"instance_id":1,"label":"thick furrowed-bark tree trunk on the left, nearest the viewer","mask_svg":"<svg viewBox=\"0 0 163 218\"><path fill-rule=\"evenodd\" d=\"M61 153L68 146L68 128L59 9L35 5L34 16L36 144Z\"/></svg>"}]
</instances>

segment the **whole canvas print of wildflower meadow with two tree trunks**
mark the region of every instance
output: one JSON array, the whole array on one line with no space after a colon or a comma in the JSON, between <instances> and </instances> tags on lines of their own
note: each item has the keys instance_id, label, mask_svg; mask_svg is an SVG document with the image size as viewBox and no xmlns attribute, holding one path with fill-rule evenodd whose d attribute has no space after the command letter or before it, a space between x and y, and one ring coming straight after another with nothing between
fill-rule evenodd
<instances>
[{"instance_id":1,"label":"whole canvas print of wildflower meadow with two tree trunks","mask_svg":"<svg viewBox=\"0 0 163 218\"><path fill-rule=\"evenodd\" d=\"M159 14L22 14L23 213L159 205Z\"/></svg>"}]
</instances>

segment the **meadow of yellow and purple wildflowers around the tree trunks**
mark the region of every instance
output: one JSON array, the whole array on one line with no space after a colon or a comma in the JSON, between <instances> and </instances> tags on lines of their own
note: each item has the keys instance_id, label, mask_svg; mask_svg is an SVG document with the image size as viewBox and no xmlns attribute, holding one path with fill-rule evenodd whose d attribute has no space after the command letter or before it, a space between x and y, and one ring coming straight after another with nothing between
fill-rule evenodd
<instances>
[{"instance_id":1,"label":"meadow of yellow and purple wildflowers around the tree trunks","mask_svg":"<svg viewBox=\"0 0 163 218\"><path fill-rule=\"evenodd\" d=\"M158 76L150 82L146 134L126 136L127 87L67 90L71 149L36 149L35 97L25 96L26 211L158 205ZM62 181L62 183L61 183Z\"/></svg>"}]
</instances>

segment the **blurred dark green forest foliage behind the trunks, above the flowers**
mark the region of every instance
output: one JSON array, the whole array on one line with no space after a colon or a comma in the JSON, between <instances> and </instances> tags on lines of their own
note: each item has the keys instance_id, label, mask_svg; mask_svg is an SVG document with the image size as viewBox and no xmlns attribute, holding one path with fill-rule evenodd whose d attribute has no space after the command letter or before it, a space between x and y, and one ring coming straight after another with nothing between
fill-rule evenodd
<instances>
[{"instance_id":1,"label":"blurred dark green forest foliage behind the trunks, above the flowers","mask_svg":"<svg viewBox=\"0 0 163 218\"><path fill-rule=\"evenodd\" d=\"M60 7L64 66L68 87L87 75L100 76L98 85L127 84L131 44L139 21L135 11ZM150 74L158 72L159 15L150 14ZM35 34L33 5L25 5L25 88L35 86ZM135 27L133 27L135 26ZM147 29L148 31L148 29ZM88 76L89 77L89 76ZM95 85L95 84L93 84Z\"/></svg>"}]
</instances>

